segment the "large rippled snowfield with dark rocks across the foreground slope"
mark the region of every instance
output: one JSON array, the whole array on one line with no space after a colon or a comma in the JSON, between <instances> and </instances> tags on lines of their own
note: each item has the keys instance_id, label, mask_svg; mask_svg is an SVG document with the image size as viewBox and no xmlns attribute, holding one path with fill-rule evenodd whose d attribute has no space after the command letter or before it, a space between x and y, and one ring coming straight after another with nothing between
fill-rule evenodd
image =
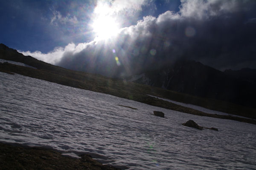
<instances>
[{"instance_id":1,"label":"large rippled snowfield with dark rocks across the foreground slope","mask_svg":"<svg viewBox=\"0 0 256 170\"><path fill-rule=\"evenodd\" d=\"M256 170L256 126L0 72L0 142L129 170ZM118 105L135 107L130 109ZM162 111L166 118L153 115ZM181 125L189 119L214 130Z\"/></svg>"}]
</instances>

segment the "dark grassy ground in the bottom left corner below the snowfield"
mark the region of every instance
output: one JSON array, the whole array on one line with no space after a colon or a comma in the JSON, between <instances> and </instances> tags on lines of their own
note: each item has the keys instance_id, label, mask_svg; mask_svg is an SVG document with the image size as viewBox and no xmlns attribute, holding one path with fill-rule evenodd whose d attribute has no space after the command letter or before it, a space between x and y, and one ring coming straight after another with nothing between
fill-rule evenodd
<instances>
[{"instance_id":1,"label":"dark grassy ground in the bottom left corner below the snowfield","mask_svg":"<svg viewBox=\"0 0 256 170\"><path fill-rule=\"evenodd\" d=\"M102 165L88 155L62 156L40 147L25 148L0 143L0 170L119 170Z\"/></svg>"}]
</instances>

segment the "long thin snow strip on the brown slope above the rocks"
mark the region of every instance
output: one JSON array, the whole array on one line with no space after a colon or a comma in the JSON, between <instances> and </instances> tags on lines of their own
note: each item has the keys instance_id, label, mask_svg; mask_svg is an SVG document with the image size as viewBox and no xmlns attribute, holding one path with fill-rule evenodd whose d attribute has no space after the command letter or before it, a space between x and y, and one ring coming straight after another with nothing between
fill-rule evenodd
<instances>
[{"instance_id":1,"label":"long thin snow strip on the brown slope above the rocks","mask_svg":"<svg viewBox=\"0 0 256 170\"><path fill-rule=\"evenodd\" d=\"M243 117L243 116L239 116L239 115L232 115L232 114L228 114L228 113L224 113L224 112L219 112L219 111L216 111L216 110L207 109L205 107L201 107L201 106L197 106L197 105L193 105L193 104L186 104L186 103L181 103L181 102L173 101L173 100L166 99L166 98L160 98L160 97L157 97L157 96L154 96L154 95L149 95L149 96L154 97L154 98L159 98L159 99L162 99L164 101L169 101L171 103L178 104L180 106L189 107L191 109L199 110L201 112L205 112L205 113L209 113L209 114L231 115L231 116L236 116L236 117L239 117L239 118L247 118L247 117Z\"/></svg>"}]
</instances>

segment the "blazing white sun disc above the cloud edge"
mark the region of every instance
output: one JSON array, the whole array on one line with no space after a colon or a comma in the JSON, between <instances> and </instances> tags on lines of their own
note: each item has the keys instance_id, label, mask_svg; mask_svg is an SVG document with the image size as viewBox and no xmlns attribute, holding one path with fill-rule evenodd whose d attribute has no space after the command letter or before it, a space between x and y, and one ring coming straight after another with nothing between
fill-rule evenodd
<instances>
[{"instance_id":1,"label":"blazing white sun disc above the cloud edge","mask_svg":"<svg viewBox=\"0 0 256 170\"><path fill-rule=\"evenodd\" d=\"M99 16L92 24L93 32L100 39L108 39L118 33L118 23L111 16Z\"/></svg>"}]
</instances>

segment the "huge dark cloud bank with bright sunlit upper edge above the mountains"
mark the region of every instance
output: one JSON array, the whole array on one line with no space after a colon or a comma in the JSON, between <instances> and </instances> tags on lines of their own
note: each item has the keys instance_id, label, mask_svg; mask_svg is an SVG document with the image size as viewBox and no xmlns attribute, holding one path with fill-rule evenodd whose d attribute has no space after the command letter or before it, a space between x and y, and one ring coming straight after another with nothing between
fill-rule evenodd
<instances>
[{"instance_id":1,"label":"huge dark cloud bank with bright sunlit upper edge above the mountains","mask_svg":"<svg viewBox=\"0 0 256 170\"><path fill-rule=\"evenodd\" d=\"M181 2L180 12L166 11L158 17L143 17L108 40L70 43L47 54L22 53L68 69L110 77L168 66L178 58L201 61L222 70L256 63L256 24L245 24L248 18L244 17L244 13L252 12L250 5L254 3L239 0ZM126 8L113 3L112 6L116 6L116 11Z\"/></svg>"}]
</instances>

